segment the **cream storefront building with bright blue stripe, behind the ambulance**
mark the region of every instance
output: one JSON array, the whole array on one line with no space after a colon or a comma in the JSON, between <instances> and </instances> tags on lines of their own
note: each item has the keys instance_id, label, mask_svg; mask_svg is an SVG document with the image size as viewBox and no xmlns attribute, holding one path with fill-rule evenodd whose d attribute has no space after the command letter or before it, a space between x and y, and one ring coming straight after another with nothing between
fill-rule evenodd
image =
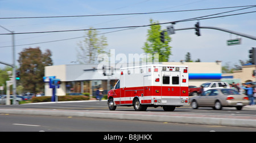
<instances>
[{"instance_id":1,"label":"cream storefront building with bright blue stripe, behind the ambulance","mask_svg":"<svg viewBox=\"0 0 256 143\"><path fill-rule=\"evenodd\" d=\"M221 80L220 62L163 62L166 65L184 65L189 67L189 85L200 86L209 81ZM104 94L117 83L119 79L119 67L111 66L115 71L104 71L98 68L98 64L64 64L47 66L45 77L55 76L61 80L57 96L65 96L68 93L89 93L94 96L98 88L104 89ZM113 68L114 67L114 68ZM106 72L104 76L104 72ZM52 96L52 89L48 82L45 83L45 95Z\"/></svg>"}]
</instances>

